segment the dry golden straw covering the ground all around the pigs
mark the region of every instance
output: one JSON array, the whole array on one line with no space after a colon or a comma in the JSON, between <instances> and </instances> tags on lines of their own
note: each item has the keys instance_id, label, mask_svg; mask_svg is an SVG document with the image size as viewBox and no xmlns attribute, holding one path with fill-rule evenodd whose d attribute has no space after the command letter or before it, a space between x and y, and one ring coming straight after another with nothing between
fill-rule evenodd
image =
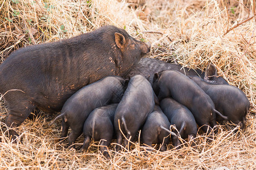
<instances>
[{"instance_id":1,"label":"dry golden straw covering the ground all around the pigs","mask_svg":"<svg viewBox=\"0 0 256 170\"><path fill-rule=\"evenodd\" d=\"M256 167L256 44L253 1L235 0L1 0L0 63L13 50L67 39L113 24L133 37L150 41L148 57L204 69L212 62L230 84L245 92L251 110L246 129L225 123L212 143L199 131L197 150L184 146L145 154L138 141L129 152L111 159L98 154L98 142L88 152L57 143L57 114L35 111L19 126L18 143L6 138L7 109L0 102L0 168L10 169L255 169ZM237 130L235 132L235 130ZM77 143L82 143L79 138ZM113 141L115 142L115 141ZM184 142L185 145L185 142Z\"/></svg>"}]
</instances>

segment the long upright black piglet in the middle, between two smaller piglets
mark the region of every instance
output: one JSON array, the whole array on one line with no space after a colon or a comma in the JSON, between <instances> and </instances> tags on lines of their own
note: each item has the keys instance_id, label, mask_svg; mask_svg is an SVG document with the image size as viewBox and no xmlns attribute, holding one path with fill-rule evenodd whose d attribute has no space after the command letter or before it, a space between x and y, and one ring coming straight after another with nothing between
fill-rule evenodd
<instances>
[{"instance_id":1,"label":"long upright black piglet in the middle, between two smaller piglets","mask_svg":"<svg viewBox=\"0 0 256 170\"><path fill-rule=\"evenodd\" d=\"M133 141L148 114L153 111L155 100L157 99L154 91L146 78L142 75L135 75L130 79L125 94L115 111L114 126L119 145L122 145L122 133L127 139ZM125 146L128 144L127 139L124 142ZM116 151L121 149L119 145L116 146Z\"/></svg>"}]
</instances>

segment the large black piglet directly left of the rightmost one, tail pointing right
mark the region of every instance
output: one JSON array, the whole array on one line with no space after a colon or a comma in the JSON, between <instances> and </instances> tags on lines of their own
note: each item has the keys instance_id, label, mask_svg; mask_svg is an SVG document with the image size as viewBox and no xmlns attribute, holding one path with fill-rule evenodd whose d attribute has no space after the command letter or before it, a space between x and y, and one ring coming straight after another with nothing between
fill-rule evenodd
<instances>
[{"instance_id":1,"label":"large black piglet directly left of the rightmost one, tail pointing right","mask_svg":"<svg viewBox=\"0 0 256 170\"><path fill-rule=\"evenodd\" d=\"M212 99L193 80L177 71L165 70L156 73L153 88L159 100L172 97L185 105L205 132L216 125L216 113L226 118L216 111Z\"/></svg>"}]
</instances>

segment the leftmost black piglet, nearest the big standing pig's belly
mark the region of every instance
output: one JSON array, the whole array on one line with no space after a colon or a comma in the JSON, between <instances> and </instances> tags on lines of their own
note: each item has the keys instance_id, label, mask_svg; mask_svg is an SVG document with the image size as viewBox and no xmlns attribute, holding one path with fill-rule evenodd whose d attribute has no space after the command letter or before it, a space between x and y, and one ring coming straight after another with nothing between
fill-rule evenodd
<instances>
[{"instance_id":1,"label":"leftmost black piglet, nearest the big standing pig's belly","mask_svg":"<svg viewBox=\"0 0 256 170\"><path fill-rule=\"evenodd\" d=\"M107 76L95 83L81 88L65 102L61 114L62 117L61 138L66 137L68 129L72 132L68 135L68 143L72 145L82 134L82 128L86 118L94 109L110 103L119 103L125 91L125 80L119 76ZM53 121L55 121L53 120Z\"/></svg>"}]
</instances>

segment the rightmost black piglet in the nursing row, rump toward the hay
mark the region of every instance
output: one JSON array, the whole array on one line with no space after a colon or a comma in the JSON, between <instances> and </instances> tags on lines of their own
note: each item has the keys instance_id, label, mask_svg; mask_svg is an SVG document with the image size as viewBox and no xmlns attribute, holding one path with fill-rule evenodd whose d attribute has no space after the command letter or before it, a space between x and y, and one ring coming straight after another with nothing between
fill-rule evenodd
<instances>
[{"instance_id":1,"label":"rightmost black piglet in the nursing row, rump toward the hay","mask_svg":"<svg viewBox=\"0 0 256 170\"><path fill-rule=\"evenodd\" d=\"M240 125L241 129L245 128L250 102L239 88L228 84L209 83L198 76L190 78L210 96L221 114L227 116L234 124ZM217 121L223 121L223 118L217 116Z\"/></svg>"}]
</instances>

